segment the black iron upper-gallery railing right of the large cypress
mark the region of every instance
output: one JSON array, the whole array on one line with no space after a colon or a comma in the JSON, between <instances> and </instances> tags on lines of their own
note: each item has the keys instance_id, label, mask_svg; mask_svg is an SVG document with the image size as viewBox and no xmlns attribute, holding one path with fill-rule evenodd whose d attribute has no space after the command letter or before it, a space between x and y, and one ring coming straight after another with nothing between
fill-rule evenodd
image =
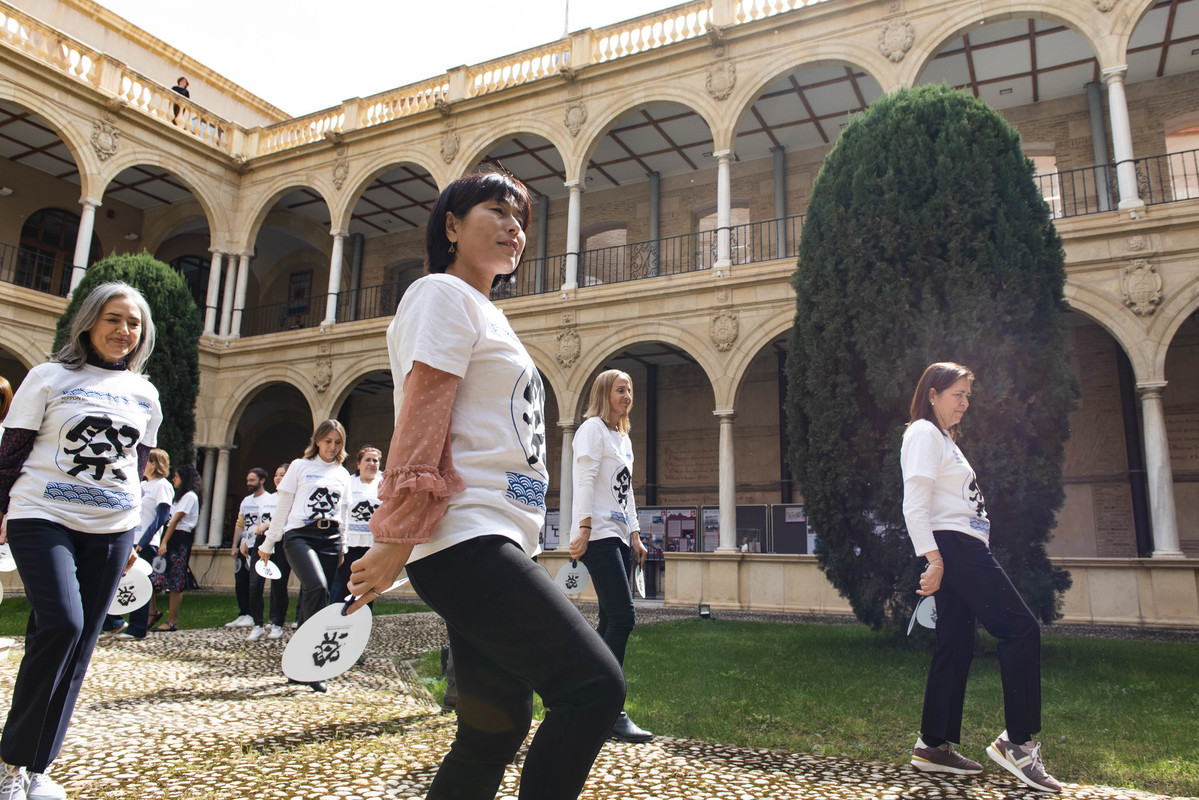
<instances>
[{"instance_id":1,"label":"black iron upper-gallery railing right of the large cypress","mask_svg":"<svg viewBox=\"0 0 1199 800\"><path fill-rule=\"evenodd\" d=\"M1199 150L1137 158L1133 164L1145 205L1199 198ZM1037 175L1036 181L1055 219L1102 213L1120 203L1114 163Z\"/></svg>"}]
</instances>

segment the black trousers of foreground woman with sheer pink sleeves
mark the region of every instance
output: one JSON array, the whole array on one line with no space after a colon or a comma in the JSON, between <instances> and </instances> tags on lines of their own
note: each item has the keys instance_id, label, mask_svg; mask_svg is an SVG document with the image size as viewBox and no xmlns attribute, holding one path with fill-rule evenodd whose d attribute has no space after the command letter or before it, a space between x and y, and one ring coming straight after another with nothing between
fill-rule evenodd
<instances>
[{"instance_id":1,"label":"black trousers of foreground woman with sheer pink sleeves","mask_svg":"<svg viewBox=\"0 0 1199 800\"><path fill-rule=\"evenodd\" d=\"M574 800L625 702L603 639L544 567L506 536L482 536L408 565L446 620L458 679L458 735L428 800L490 800L546 705L520 775L522 800Z\"/></svg>"}]
</instances>

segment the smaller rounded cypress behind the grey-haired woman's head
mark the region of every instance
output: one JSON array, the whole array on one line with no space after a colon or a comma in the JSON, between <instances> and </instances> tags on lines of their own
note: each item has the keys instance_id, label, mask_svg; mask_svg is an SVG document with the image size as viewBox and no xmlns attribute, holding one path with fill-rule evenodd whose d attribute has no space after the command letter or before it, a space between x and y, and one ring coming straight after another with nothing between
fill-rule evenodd
<instances>
[{"instance_id":1,"label":"smaller rounded cypress behind the grey-haired woman's head","mask_svg":"<svg viewBox=\"0 0 1199 800\"><path fill-rule=\"evenodd\" d=\"M194 463L195 396L200 391L200 363L197 343L203 323L183 276L146 252L109 255L92 264L71 295L59 318L54 350L66 344L83 299L98 284L123 281L145 295L157 329L146 375L158 389L162 427L158 447L170 455L171 464Z\"/></svg>"}]
</instances>

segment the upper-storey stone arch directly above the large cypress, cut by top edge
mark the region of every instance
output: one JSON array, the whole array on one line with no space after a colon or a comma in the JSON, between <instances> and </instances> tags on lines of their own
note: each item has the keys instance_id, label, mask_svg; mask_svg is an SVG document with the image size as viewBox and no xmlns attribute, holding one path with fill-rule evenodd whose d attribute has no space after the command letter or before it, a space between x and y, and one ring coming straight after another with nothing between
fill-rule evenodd
<instances>
[{"instance_id":1,"label":"upper-storey stone arch directly above the large cypress, cut by top edge","mask_svg":"<svg viewBox=\"0 0 1199 800\"><path fill-rule=\"evenodd\" d=\"M1093 6L1091 7L1093 10ZM1099 60L1101 67L1115 65L1116 54L1105 31L1095 24L1097 20L1091 14L1079 14L1079 8L1081 6L984 0L981 6L970 5L946 10L946 13L939 17L930 29L921 31L912 52L908 53L900 62L898 85L915 86L920 76L924 73L945 43L954 36L978 28L980 22L987 24L1007 19L1035 18L1060 23L1083 37L1083 41Z\"/></svg>"}]
</instances>

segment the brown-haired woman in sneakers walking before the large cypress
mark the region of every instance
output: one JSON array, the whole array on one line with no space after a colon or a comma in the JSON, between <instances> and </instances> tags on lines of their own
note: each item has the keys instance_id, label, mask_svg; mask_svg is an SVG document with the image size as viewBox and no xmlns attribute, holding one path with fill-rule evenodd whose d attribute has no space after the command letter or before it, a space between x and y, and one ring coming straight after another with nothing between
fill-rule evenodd
<instances>
[{"instance_id":1,"label":"brown-haired woman in sneakers walking before the large cypress","mask_svg":"<svg viewBox=\"0 0 1199 800\"><path fill-rule=\"evenodd\" d=\"M1041 762L1041 627L990 552L990 519L970 462L957 445L974 373L930 365L912 395L899 462L903 513L916 555L928 559L918 595L936 600L936 649L924 687L911 763L926 772L975 775L958 753L975 621L999 639L1006 729L987 747L993 762L1040 792L1060 792Z\"/></svg>"}]
</instances>

